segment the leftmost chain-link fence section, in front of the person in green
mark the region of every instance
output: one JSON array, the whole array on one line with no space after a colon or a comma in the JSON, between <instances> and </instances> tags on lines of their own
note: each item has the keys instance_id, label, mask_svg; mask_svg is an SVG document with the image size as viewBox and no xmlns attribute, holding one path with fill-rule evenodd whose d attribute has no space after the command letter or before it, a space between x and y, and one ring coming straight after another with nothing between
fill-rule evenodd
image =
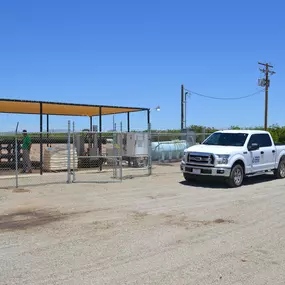
<instances>
[{"instance_id":1,"label":"leftmost chain-link fence section, in front of the person in green","mask_svg":"<svg viewBox=\"0 0 285 285\"><path fill-rule=\"evenodd\" d=\"M70 132L0 134L0 188L66 183Z\"/></svg>"}]
</instances>

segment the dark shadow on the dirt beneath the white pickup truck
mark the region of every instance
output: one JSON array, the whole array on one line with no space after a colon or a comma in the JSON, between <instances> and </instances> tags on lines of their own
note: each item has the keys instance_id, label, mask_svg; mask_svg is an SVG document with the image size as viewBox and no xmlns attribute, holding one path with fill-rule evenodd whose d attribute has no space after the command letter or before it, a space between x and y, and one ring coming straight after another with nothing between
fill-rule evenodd
<instances>
[{"instance_id":1,"label":"dark shadow on the dirt beneath the white pickup truck","mask_svg":"<svg viewBox=\"0 0 285 285\"><path fill-rule=\"evenodd\" d=\"M273 175L264 174L255 177L248 177L244 179L243 186L257 185L264 182L269 182L275 180ZM212 188L212 189L231 189L228 187L226 182L221 179L215 178L195 178L191 182L181 181L179 182L184 186L193 186L197 188Z\"/></svg>"}]
</instances>

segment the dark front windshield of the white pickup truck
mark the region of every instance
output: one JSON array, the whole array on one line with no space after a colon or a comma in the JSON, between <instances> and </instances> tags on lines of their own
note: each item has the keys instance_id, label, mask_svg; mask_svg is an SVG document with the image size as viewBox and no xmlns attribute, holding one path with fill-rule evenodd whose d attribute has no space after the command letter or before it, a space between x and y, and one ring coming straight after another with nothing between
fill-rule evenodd
<instances>
[{"instance_id":1,"label":"dark front windshield of the white pickup truck","mask_svg":"<svg viewBox=\"0 0 285 285\"><path fill-rule=\"evenodd\" d=\"M245 133L214 133L203 144L223 146L243 146L248 134Z\"/></svg>"}]
</instances>

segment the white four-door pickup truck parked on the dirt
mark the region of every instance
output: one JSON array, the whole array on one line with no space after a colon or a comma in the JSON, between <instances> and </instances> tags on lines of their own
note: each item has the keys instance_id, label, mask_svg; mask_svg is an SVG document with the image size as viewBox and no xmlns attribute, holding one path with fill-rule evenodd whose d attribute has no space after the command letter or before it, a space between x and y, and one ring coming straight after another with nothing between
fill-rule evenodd
<instances>
[{"instance_id":1,"label":"white four-door pickup truck parked on the dirt","mask_svg":"<svg viewBox=\"0 0 285 285\"><path fill-rule=\"evenodd\" d=\"M186 181L196 176L222 177L230 187L245 176L274 172L285 178L285 145L275 145L269 132L226 130L184 151L180 169Z\"/></svg>"}]
</instances>

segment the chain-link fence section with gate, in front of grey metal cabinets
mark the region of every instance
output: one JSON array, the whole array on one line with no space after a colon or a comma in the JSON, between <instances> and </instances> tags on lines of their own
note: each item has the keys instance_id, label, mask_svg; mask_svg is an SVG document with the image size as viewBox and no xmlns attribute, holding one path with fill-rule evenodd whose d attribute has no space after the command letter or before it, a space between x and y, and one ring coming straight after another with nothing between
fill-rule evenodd
<instances>
[{"instance_id":1,"label":"chain-link fence section with gate, in front of grey metal cabinets","mask_svg":"<svg viewBox=\"0 0 285 285\"><path fill-rule=\"evenodd\" d=\"M150 174L147 132L73 131L72 141L77 156L72 182L116 182Z\"/></svg>"}]
</instances>

